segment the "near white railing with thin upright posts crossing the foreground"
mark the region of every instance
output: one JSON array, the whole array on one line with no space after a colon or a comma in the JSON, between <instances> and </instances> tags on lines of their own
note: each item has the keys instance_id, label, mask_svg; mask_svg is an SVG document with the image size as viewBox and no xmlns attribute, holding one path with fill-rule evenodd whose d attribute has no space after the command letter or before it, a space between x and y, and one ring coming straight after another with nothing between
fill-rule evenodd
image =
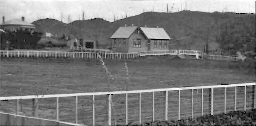
<instances>
[{"instance_id":1,"label":"near white railing with thin upright posts crossing the foreground","mask_svg":"<svg viewBox=\"0 0 256 126\"><path fill-rule=\"evenodd\" d=\"M26 109L24 111L31 111L29 101L25 100L34 99L35 102L40 99L50 99L48 101L43 100L38 104L41 104L41 109L44 108L41 112L50 108L55 109L53 115L57 121L63 118L68 122L75 121L76 124L83 122L93 126L111 126L113 123L128 124L131 121L142 123L154 120L180 120L185 117L194 118L204 114L213 115L220 112L226 113L228 111L256 108L255 85L255 83L241 83L154 90L9 96L0 97L0 101L4 100L2 102L6 102L5 106L8 106L9 111L11 111L11 108L16 108L16 114L19 114L19 107L21 106L19 102L21 100L24 102L23 109ZM16 100L16 102L13 102L13 100ZM71 111L68 106L75 108L75 111L73 109ZM35 111L38 111L35 108L37 107L33 107L34 115ZM64 110L66 110L66 114L61 115L60 112ZM85 114L87 116L84 116ZM45 116L53 115L47 111ZM100 124L100 122L104 124Z\"/></svg>"}]
</instances>

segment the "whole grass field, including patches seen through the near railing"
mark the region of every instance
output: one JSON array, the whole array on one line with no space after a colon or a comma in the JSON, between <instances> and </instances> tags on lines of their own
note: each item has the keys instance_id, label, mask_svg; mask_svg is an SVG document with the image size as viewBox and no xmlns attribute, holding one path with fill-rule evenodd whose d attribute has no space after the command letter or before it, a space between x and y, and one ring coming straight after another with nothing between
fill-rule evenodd
<instances>
[{"instance_id":1,"label":"whole grass field, including patches seen through the near railing","mask_svg":"<svg viewBox=\"0 0 256 126\"><path fill-rule=\"evenodd\" d=\"M62 94L62 93L85 93L85 92L102 92L102 91L121 91L126 90L144 90L156 88L172 88L183 86L200 86L200 85L220 85L221 83L247 83L255 80L253 62L227 62L227 61L206 61L206 60L185 60L177 59L172 56L162 57L144 57L128 59L128 69L130 74L130 83L126 83L124 60L104 60L115 80L110 82L101 62L96 59L61 59L61 58L2 58L1 59L1 87L0 96L20 96L20 95L42 95L42 94ZM200 96L200 91L197 95ZM241 90L242 92L242 90ZM205 92L207 95L207 92ZM232 93L232 91L230 91ZM181 97L185 98L185 92L181 92ZM209 93L208 93L209 94ZM155 113L164 111L164 93L155 94L156 103L159 103ZM184 95L184 96L183 96ZM159 96L157 98L157 96ZM170 107L177 111L177 93L169 94L171 103ZM124 96L117 96L119 101L115 103L116 113L123 118ZM137 94L129 97L136 99L129 100L129 103L135 103L138 99ZM146 113L143 120L150 119L150 93L142 94L143 110ZM223 95L220 96L223 99ZM107 120L107 97L97 98L98 109L96 115L98 121ZM163 100L161 100L163 99ZM232 98L230 98L232 99ZM31 110L32 102L23 101L23 111ZM181 102L183 100L181 99ZM54 108L55 99L40 101L41 117L55 118ZM66 104L65 104L66 102ZM67 105L67 102L70 105ZM60 120L74 121L74 98L60 99ZM79 123L91 123L91 98L79 97ZM200 100L196 102L200 103ZM195 106L197 103L195 102ZM205 102L209 102L206 100ZM231 102L231 101L230 101ZM96 104L97 104L96 103ZM187 107L186 102L182 102ZM223 103L223 102L222 102ZM12 106L15 107L15 101ZM46 105L47 104L47 105ZM152 104L152 103L151 103ZM11 104L10 104L11 105ZM7 105L6 105L7 106ZM129 105L129 112L137 113L137 106ZM157 106L157 105L156 105ZM198 104L200 106L200 104ZM207 106L207 105L206 105ZM242 105L241 105L242 106ZM85 109L87 107L87 109ZM136 109L135 109L135 108ZM3 108L3 107L2 107ZM8 108L8 109L9 109ZM96 106L97 108L97 106ZM219 106L221 108L221 106ZM222 107L223 108L223 107ZM52 109L52 110L49 110ZM181 114L187 109L182 109ZM195 110L196 111L196 110ZM12 110L15 112L15 108ZM198 109L200 114L200 108ZM171 112L173 113L173 112ZM26 115L31 113L27 111ZM102 116L100 116L102 114ZM46 117L47 115L47 117ZM173 115L170 115L172 117ZM85 117L88 120L85 121ZM163 119L164 115L155 116ZM137 116L129 117L129 121L138 120ZM118 120L123 124L124 120ZM107 121L104 123L106 124Z\"/></svg>"}]
</instances>

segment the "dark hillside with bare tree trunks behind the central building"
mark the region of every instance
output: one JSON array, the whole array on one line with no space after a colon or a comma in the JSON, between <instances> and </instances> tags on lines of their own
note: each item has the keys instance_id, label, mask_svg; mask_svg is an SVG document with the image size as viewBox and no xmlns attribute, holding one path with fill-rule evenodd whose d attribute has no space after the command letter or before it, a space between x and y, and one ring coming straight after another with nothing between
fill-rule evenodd
<instances>
[{"instance_id":1,"label":"dark hillside with bare tree trunks behind the central building","mask_svg":"<svg viewBox=\"0 0 256 126\"><path fill-rule=\"evenodd\" d=\"M97 39L101 46L110 44L110 36L120 26L162 27L171 36L171 49L201 49L208 41L208 49L221 47L225 52L251 50L253 37L253 14L206 13L181 11L176 13L145 12L114 22L95 18L73 21L70 24L57 20L37 20L33 23L40 31L77 38ZM105 47L105 46L104 46Z\"/></svg>"}]
</instances>

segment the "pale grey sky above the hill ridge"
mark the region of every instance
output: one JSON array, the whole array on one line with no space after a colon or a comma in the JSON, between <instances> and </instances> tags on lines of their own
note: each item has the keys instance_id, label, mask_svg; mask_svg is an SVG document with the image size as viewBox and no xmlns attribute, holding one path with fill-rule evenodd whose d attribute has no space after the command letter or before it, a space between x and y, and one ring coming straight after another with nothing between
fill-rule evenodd
<instances>
[{"instance_id":1,"label":"pale grey sky above the hill ridge","mask_svg":"<svg viewBox=\"0 0 256 126\"><path fill-rule=\"evenodd\" d=\"M107 21L138 15L148 11L178 12L181 10L201 12L255 13L255 0L0 0L0 17L5 21L21 19L33 22L54 18L68 23L70 20L103 18ZM173 7L173 8L172 8ZM2 23L2 18L0 20Z\"/></svg>"}]
</instances>

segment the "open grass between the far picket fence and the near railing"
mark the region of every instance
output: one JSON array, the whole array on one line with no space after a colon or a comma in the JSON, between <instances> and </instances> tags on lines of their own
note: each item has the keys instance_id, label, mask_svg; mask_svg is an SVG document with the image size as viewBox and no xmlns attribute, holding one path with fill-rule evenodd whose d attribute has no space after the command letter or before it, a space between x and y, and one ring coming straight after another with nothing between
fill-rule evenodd
<instances>
[{"instance_id":1,"label":"open grass between the far picket fence and the near railing","mask_svg":"<svg viewBox=\"0 0 256 126\"><path fill-rule=\"evenodd\" d=\"M126 90L126 86L128 90L143 90L255 80L250 62L172 57L129 59L129 84L125 83L123 60L105 60L115 78L111 84L96 59L2 58L1 62L1 96L120 91Z\"/></svg>"}]
</instances>

